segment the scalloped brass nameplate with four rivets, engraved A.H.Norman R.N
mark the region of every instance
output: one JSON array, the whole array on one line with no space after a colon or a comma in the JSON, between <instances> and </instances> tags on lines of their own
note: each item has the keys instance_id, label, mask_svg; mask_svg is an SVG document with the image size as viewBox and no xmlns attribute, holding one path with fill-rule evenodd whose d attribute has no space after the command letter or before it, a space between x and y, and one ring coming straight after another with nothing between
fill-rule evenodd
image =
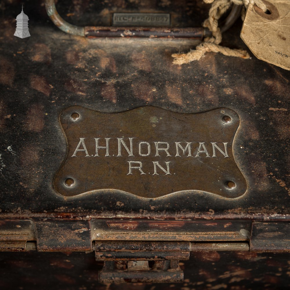
<instances>
[{"instance_id":1,"label":"scalloped brass nameplate with four rivets, engraved A.H.Norman R.N","mask_svg":"<svg viewBox=\"0 0 290 290\"><path fill-rule=\"evenodd\" d=\"M154 198L197 190L235 198L247 189L233 156L240 123L233 110L101 113L75 106L60 122L68 154L54 184L62 195L110 190Z\"/></svg>"}]
</instances>

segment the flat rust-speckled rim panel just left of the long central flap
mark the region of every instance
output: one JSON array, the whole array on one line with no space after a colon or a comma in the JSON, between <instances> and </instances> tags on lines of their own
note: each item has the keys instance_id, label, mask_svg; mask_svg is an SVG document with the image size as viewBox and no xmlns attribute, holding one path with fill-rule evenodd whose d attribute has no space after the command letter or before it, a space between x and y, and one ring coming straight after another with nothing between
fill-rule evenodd
<instances>
[{"instance_id":1,"label":"flat rust-speckled rim panel just left of the long central flap","mask_svg":"<svg viewBox=\"0 0 290 290\"><path fill-rule=\"evenodd\" d=\"M37 251L92 251L87 221L39 221L35 227Z\"/></svg>"}]
</instances>

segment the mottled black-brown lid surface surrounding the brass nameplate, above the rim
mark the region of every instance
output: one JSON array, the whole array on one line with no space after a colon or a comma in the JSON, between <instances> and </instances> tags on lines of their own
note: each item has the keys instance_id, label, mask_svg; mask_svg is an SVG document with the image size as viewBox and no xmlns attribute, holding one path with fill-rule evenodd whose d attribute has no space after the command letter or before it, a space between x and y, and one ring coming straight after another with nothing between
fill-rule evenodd
<instances>
[{"instance_id":1,"label":"mottled black-brown lid surface surrounding the brass nameplate, above the rim","mask_svg":"<svg viewBox=\"0 0 290 290\"><path fill-rule=\"evenodd\" d=\"M74 24L97 24L88 21L95 7L81 2L64 1L57 8ZM127 1L115 3L126 10ZM167 7L161 1L159 10L162 3ZM13 36L19 2L1 6L1 218L289 217L289 71L255 57L215 53L174 66L171 53L187 51L197 40L74 37L51 23L43 3L24 4L31 34L25 39ZM104 13L117 10L102 5ZM223 44L244 48L240 28L238 21ZM67 199L54 190L53 179L67 150L59 116L74 105L110 113L148 105L179 113L232 109L240 117L233 150L248 190L235 200L200 191L158 199L104 191Z\"/></svg>"}]
</instances>

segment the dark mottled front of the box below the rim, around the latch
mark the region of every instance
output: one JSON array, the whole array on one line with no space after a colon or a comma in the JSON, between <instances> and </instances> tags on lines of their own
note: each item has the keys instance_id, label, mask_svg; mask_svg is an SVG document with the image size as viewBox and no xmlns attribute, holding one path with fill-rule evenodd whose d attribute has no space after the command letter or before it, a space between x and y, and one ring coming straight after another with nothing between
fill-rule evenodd
<instances>
[{"instance_id":1,"label":"dark mottled front of the box below the rim, around the latch","mask_svg":"<svg viewBox=\"0 0 290 290\"><path fill-rule=\"evenodd\" d=\"M199 252L181 264L183 283L100 284L93 253L2 253L1 289L289 289L289 254ZM288 273L287 273L288 272ZM49 274L48 274L49 273Z\"/></svg>"}]
</instances>

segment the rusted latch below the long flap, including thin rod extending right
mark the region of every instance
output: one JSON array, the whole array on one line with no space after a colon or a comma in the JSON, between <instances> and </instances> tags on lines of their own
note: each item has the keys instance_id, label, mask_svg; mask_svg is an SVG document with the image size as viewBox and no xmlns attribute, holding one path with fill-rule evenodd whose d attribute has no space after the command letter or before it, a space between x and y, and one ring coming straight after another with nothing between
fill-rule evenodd
<instances>
[{"instance_id":1,"label":"rusted latch below the long flap, including thin rod extending right","mask_svg":"<svg viewBox=\"0 0 290 290\"><path fill-rule=\"evenodd\" d=\"M247 242L191 243L144 241L95 241L101 283L183 281L179 260L189 260L190 251L249 251Z\"/></svg>"}]
</instances>

